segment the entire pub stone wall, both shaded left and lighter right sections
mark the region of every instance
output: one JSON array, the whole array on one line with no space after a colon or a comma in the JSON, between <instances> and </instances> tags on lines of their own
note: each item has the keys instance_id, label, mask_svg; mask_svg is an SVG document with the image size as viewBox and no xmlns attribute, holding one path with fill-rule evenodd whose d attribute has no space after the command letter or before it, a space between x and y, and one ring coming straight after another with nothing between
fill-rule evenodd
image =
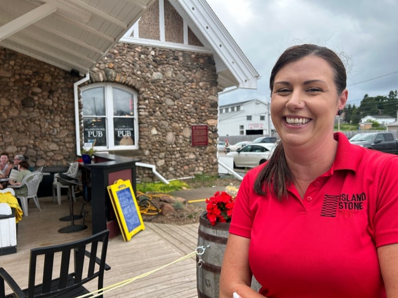
<instances>
[{"instance_id":1,"label":"entire pub stone wall, both shaded left and lighter right sections","mask_svg":"<svg viewBox=\"0 0 398 298\"><path fill-rule=\"evenodd\" d=\"M0 151L31 166L65 166L76 157L73 77L0 47ZM217 75L211 55L118 43L90 72L138 93L139 149L111 153L156 165L167 179L216 174ZM81 103L80 103L81 104ZM208 146L191 146L191 125L208 125ZM157 180L138 168L143 181Z\"/></svg>"}]
</instances>

